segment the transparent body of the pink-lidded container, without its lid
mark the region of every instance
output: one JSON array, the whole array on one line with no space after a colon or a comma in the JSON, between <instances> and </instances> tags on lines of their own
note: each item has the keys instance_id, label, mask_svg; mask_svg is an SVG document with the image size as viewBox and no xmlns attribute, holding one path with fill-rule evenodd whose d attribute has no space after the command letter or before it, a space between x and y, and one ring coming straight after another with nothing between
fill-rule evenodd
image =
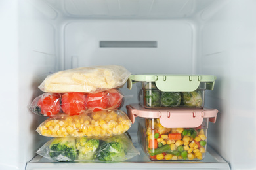
<instances>
[{"instance_id":1,"label":"transparent body of the pink-lidded container, without its lid","mask_svg":"<svg viewBox=\"0 0 256 170\"><path fill-rule=\"evenodd\" d=\"M203 160L208 118L196 128L165 128L158 118L139 118L138 141L152 161Z\"/></svg>"}]
</instances>

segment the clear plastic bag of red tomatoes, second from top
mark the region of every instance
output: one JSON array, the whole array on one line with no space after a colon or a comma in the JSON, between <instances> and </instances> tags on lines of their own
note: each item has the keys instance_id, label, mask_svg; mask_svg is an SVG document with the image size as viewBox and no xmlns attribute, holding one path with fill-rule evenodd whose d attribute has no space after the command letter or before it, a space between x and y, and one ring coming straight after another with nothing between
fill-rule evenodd
<instances>
[{"instance_id":1,"label":"clear plastic bag of red tomatoes, second from top","mask_svg":"<svg viewBox=\"0 0 256 170\"><path fill-rule=\"evenodd\" d=\"M100 110L119 109L124 97L117 89L98 93L43 93L36 97L30 110L40 116L79 115Z\"/></svg>"}]
</instances>

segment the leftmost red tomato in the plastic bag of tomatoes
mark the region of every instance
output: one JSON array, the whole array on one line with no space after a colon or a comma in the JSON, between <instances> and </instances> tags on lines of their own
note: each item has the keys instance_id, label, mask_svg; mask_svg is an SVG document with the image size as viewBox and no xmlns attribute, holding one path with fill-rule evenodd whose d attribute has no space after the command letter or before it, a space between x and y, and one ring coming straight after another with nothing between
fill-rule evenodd
<instances>
[{"instance_id":1,"label":"leftmost red tomato in the plastic bag of tomatoes","mask_svg":"<svg viewBox=\"0 0 256 170\"><path fill-rule=\"evenodd\" d=\"M60 95L56 93L44 93L41 95L37 105L41 109L41 114L51 116L60 112Z\"/></svg>"}]
</instances>

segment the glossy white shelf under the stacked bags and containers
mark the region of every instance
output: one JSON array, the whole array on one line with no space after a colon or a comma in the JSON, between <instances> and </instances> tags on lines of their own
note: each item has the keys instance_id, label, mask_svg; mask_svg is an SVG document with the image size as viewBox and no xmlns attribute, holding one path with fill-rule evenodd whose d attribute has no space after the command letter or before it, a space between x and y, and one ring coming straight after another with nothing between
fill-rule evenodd
<instances>
[{"instance_id":1,"label":"glossy white shelf under the stacked bags and containers","mask_svg":"<svg viewBox=\"0 0 256 170\"><path fill-rule=\"evenodd\" d=\"M56 170L56 169L223 169L229 170L228 162L223 160L213 148L207 145L207 154L202 161L150 161L137 142L137 135L130 134L133 144L140 152L131 160L119 163L64 163L51 161L42 156L35 156L26 165L26 170Z\"/></svg>"}]
</instances>

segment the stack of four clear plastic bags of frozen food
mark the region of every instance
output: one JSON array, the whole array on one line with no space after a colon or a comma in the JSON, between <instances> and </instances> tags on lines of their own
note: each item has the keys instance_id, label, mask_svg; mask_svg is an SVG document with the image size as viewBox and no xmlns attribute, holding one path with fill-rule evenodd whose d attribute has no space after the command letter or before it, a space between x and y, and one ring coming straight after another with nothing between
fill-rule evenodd
<instances>
[{"instance_id":1,"label":"stack of four clear plastic bags of frozen food","mask_svg":"<svg viewBox=\"0 0 256 170\"><path fill-rule=\"evenodd\" d=\"M54 137L37 154L56 161L124 161L139 154L125 133L131 120L118 110L119 91L131 73L117 65L80 67L53 73L39 88L30 110L49 116L37 128Z\"/></svg>"}]
</instances>

